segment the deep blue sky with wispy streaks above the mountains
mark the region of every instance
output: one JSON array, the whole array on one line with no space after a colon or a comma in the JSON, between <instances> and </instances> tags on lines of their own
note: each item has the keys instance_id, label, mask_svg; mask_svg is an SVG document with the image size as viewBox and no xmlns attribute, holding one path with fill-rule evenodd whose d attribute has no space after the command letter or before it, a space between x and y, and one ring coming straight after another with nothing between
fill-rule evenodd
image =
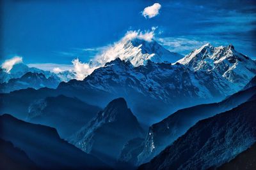
<instances>
[{"instance_id":1,"label":"deep blue sky with wispy streaks above the mountains","mask_svg":"<svg viewBox=\"0 0 256 170\"><path fill-rule=\"evenodd\" d=\"M1 1L1 60L71 64L90 60L129 30L157 27L155 39L171 51L189 53L206 42L232 43L256 59L255 1ZM159 15L141 11L161 4Z\"/></svg>"}]
</instances>

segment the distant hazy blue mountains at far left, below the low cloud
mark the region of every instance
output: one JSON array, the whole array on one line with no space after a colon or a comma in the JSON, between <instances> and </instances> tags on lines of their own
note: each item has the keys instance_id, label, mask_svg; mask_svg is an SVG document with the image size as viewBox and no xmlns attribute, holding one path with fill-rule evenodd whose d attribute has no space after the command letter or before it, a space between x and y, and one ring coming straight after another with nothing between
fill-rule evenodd
<instances>
[{"instance_id":1,"label":"distant hazy blue mountains at far left, below the low cloud","mask_svg":"<svg viewBox=\"0 0 256 170\"><path fill-rule=\"evenodd\" d=\"M1 93L9 93L20 89L40 89L49 87L56 89L61 81L69 81L75 78L72 71L61 71L52 73L36 67L28 67L24 63L14 64L10 71L0 67Z\"/></svg>"}]
</instances>

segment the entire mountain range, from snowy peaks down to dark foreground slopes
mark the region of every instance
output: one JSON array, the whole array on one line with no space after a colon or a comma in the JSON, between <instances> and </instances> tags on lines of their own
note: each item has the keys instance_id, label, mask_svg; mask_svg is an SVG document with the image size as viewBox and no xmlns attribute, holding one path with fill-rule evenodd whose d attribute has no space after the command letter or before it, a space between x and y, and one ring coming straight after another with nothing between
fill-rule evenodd
<instances>
[{"instance_id":1,"label":"entire mountain range, from snowy peaks down to dark foreground slopes","mask_svg":"<svg viewBox=\"0 0 256 170\"><path fill-rule=\"evenodd\" d=\"M183 57L122 39L89 65L83 80L23 63L0 70L4 166L223 169L250 155L256 62L234 46Z\"/></svg>"}]
</instances>

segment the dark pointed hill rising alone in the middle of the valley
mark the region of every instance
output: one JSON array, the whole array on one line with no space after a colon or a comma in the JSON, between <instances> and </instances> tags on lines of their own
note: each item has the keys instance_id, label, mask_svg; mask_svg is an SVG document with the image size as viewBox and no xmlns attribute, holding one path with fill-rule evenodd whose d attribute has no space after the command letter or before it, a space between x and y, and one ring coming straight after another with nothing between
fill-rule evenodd
<instances>
[{"instance_id":1,"label":"dark pointed hill rising alone in the middle of the valley","mask_svg":"<svg viewBox=\"0 0 256 170\"><path fill-rule=\"evenodd\" d=\"M115 164L122 146L143 131L138 120L127 108L123 98L111 101L92 122L83 127L69 141L86 153Z\"/></svg>"}]
</instances>

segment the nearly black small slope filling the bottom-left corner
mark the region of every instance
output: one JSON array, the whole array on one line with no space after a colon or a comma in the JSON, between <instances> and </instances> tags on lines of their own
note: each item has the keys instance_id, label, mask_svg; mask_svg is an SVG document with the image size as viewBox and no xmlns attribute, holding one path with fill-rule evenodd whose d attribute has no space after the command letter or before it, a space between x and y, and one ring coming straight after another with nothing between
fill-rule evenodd
<instances>
[{"instance_id":1,"label":"nearly black small slope filling the bottom-left corner","mask_svg":"<svg viewBox=\"0 0 256 170\"><path fill-rule=\"evenodd\" d=\"M40 169L29 159L28 155L12 143L0 138L0 167L1 169Z\"/></svg>"}]
</instances>

